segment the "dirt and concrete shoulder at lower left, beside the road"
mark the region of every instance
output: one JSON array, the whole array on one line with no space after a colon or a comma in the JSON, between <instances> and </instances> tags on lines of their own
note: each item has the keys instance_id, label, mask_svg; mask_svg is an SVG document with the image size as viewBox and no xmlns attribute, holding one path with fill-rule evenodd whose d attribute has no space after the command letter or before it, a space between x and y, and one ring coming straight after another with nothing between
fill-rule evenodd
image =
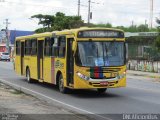
<instances>
[{"instance_id":1,"label":"dirt and concrete shoulder at lower left, beside the road","mask_svg":"<svg viewBox=\"0 0 160 120\"><path fill-rule=\"evenodd\" d=\"M0 82L0 119L10 120L10 117L13 120L89 119L85 115L78 115Z\"/></svg>"}]
</instances>

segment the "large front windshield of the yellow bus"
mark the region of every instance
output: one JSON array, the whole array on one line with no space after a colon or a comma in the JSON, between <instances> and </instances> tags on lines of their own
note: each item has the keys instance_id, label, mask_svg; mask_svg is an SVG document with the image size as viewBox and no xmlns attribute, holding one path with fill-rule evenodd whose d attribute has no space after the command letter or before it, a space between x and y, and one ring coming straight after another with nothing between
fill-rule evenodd
<instances>
[{"instance_id":1,"label":"large front windshield of the yellow bus","mask_svg":"<svg viewBox=\"0 0 160 120\"><path fill-rule=\"evenodd\" d=\"M78 42L78 66L122 66L125 63L124 42Z\"/></svg>"}]
</instances>

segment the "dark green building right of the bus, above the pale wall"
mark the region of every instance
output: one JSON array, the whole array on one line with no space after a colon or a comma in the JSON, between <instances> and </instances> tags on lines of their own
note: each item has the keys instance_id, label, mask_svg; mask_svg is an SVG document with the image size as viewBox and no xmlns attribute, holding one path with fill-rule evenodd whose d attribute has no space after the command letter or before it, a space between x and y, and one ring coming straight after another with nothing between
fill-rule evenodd
<instances>
[{"instance_id":1,"label":"dark green building right of the bus, above the pale wall","mask_svg":"<svg viewBox=\"0 0 160 120\"><path fill-rule=\"evenodd\" d=\"M153 44L158 36L158 32L126 32L126 42L128 43L128 57L131 60L151 60L155 58ZM157 57L157 55L156 55Z\"/></svg>"}]
</instances>

